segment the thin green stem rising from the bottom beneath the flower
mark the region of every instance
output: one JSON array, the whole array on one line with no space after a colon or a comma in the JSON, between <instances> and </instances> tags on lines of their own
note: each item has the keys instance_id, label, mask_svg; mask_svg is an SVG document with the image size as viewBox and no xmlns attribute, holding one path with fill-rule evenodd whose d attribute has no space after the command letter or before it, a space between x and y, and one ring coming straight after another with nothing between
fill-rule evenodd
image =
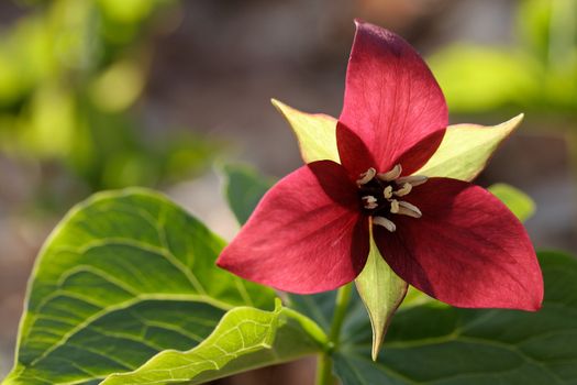
<instances>
[{"instance_id":1,"label":"thin green stem rising from the bottom beneath the flower","mask_svg":"<svg viewBox=\"0 0 577 385\"><path fill-rule=\"evenodd\" d=\"M353 284L345 285L336 293L335 308L333 315L333 322L331 323L331 330L329 331L329 341L332 344L332 349L323 352L319 356L317 366L317 385L333 385L335 383L333 377L333 360L331 359L332 351L339 345L339 338L341 337L341 328L345 320L346 308L351 300L351 293L353 290Z\"/></svg>"}]
</instances>

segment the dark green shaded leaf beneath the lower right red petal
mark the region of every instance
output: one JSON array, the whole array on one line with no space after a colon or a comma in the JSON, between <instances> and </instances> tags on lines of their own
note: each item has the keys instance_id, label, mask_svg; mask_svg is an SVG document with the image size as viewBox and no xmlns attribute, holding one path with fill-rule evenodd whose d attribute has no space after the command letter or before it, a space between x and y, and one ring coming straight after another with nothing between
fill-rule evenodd
<instances>
[{"instance_id":1,"label":"dark green shaded leaf beneath the lower right red petal","mask_svg":"<svg viewBox=\"0 0 577 385\"><path fill-rule=\"evenodd\" d=\"M368 322L334 354L344 385L577 384L577 260L540 253L545 301L537 312L400 308L377 363Z\"/></svg>"}]
</instances>

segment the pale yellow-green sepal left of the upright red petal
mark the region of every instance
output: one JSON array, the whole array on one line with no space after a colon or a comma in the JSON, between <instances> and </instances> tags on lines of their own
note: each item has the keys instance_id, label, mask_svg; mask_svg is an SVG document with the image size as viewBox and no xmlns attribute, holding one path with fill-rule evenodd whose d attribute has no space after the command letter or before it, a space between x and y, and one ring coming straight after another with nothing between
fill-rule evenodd
<instances>
[{"instance_id":1,"label":"pale yellow-green sepal left of the upright red petal","mask_svg":"<svg viewBox=\"0 0 577 385\"><path fill-rule=\"evenodd\" d=\"M270 101L297 135L306 163L324 160L341 163L336 148L336 119L323 113L301 112L276 99Z\"/></svg>"}]
</instances>

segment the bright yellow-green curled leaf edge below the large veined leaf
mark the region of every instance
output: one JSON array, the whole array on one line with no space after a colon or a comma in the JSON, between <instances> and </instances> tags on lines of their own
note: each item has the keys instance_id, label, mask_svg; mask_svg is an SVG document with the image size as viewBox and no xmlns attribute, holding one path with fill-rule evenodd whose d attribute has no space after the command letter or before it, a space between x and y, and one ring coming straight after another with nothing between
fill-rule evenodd
<instances>
[{"instance_id":1,"label":"bright yellow-green curled leaf edge below the large veined leaf","mask_svg":"<svg viewBox=\"0 0 577 385\"><path fill-rule=\"evenodd\" d=\"M326 345L323 331L293 310L280 306L274 311L235 308L195 349L164 351L138 370L111 375L102 384L201 384L318 353Z\"/></svg>"}]
</instances>

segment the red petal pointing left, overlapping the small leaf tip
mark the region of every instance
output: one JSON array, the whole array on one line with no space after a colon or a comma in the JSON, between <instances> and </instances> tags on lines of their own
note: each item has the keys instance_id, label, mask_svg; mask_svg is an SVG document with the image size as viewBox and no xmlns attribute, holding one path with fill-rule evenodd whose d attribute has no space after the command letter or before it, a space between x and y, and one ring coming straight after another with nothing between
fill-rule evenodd
<instances>
[{"instance_id":1,"label":"red petal pointing left, overlapping the small leaf tip","mask_svg":"<svg viewBox=\"0 0 577 385\"><path fill-rule=\"evenodd\" d=\"M243 278L292 293L352 282L369 250L356 186L331 161L282 178L260 200L217 264Z\"/></svg>"}]
</instances>

